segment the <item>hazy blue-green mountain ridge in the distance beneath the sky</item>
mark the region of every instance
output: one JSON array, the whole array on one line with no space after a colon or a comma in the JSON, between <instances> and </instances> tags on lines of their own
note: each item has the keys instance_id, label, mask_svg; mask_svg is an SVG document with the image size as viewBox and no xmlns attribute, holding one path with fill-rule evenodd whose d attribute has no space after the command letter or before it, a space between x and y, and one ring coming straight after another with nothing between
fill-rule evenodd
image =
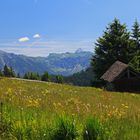
<instances>
[{"instance_id":1,"label":"hazy blue-green mountain ridge in the distance beneath the sky","mask_svg":"<svg viewBox=\"0 0 140 140\"><path fill-rule=\"evenodd\" d=\"M0 68L2 69L7 64L21 75L26 72L42 74L48 71L50 74L68 76L85 70L90 65L91 56L91 52L82 51L81 49L75 53L51 53L48 57L28 57L0 51Z\"/></svg>"}]
</instances>

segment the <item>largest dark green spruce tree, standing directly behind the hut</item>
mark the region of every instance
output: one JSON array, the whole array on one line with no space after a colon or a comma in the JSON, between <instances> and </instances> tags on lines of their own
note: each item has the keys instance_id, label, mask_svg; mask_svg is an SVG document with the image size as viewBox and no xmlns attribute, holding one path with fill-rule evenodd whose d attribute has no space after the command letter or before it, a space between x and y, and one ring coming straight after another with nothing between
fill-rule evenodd
<instances>
[{"instance_id":1,"label":"largest dark green spruce tree, standing directly behind the hut","mask_svg":"<svg viewBox=\"0 0 140 140\"><path fill-rule=\"evenodd\" d=\"M126 25L121 24L118 19L114 19L104 31L103 36L95 43L95 55L91 65L96 78L99 79L117 60L128 63L130 49L130 33L127 31Z\"/></svg>"}]
</instances>

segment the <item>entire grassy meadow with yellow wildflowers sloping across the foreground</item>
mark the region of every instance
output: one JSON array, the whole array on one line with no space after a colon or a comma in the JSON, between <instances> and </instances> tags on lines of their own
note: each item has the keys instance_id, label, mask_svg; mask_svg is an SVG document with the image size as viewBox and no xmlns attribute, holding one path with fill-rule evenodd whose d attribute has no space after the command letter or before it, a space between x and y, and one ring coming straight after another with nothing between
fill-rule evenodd
<instances>
[{"instance_id":1,"label":"entire grassy meadow with yellow wildflowers sloping across the foreground","mask_svg":"<svg viewBox=\"0 0 140 140\"><path fill-rule=\"evenodd\" d=\"M2 140L140 140L140 95L0 79Z\"/></svg>"}]
</instances>

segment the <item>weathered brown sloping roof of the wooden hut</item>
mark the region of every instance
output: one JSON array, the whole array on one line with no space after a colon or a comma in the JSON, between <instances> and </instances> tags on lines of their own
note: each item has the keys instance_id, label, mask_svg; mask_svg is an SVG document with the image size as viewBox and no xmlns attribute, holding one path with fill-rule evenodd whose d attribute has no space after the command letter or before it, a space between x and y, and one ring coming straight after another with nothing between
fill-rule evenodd
<instances>
[{"instance_id":1,"label":"weathered brown sloping roof of the wooden hut","mask_svg":"<svg viewBox=\"0 0 140 140\"><path fill-rule=\"evenodd\" d=\"M129 66L120 61L116 61L101 77L101 79L113 82Z\"/></svg>"}]
</instances>

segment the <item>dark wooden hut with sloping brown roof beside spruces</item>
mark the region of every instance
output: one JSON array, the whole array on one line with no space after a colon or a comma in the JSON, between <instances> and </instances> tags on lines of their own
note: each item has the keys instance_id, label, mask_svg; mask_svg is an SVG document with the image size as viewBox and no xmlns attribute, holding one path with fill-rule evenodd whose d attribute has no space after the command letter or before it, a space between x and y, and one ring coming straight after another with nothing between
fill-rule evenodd
<instances>
[{"instance_id":1,"label":"dark wooden hut with sloping brown roof beside spruces","mask_svg":"<svg viewBox=\"0 0 140 140\"><path fill-rule=\"evenodd\" d=\"M116 61L101 77L117 91L140 92L140 73Z\"/></svg>"}]
</instances>

